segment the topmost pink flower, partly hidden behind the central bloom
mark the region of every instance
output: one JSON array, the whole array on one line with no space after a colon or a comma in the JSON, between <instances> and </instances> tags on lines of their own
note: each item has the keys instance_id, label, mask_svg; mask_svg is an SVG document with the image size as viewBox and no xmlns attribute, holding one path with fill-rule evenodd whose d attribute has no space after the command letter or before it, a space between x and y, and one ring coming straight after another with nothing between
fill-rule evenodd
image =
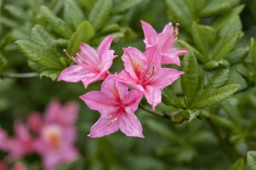
<instances>
[{"instance_id":1,"label":"topmost pink flower, partly hidden behind the central bloom","mask_svg":"<svg viewBox=\"0 0 256 170\"><path fill-rule=\"evenodd\" d=\"M172 23L165 26L161 33L157 33L152 26L143 20L143 32L144 32L144 42L146 48L157 45L160 48L161 53L161 64L174 64L180 65L179 55L186 54L188 49L174 48L174 43L177 41L177 26L173 28Z\"/></svg>"}]
</instances>

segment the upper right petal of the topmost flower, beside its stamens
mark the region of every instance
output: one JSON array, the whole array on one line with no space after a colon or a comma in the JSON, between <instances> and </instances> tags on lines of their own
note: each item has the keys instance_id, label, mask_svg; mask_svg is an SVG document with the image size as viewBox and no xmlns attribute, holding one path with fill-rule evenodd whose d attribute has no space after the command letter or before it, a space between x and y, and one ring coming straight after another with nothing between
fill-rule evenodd
<instances>
[{"instance_id":1,"label":"upper right petal of the topmost flower, beside its stamens","mask_svg":"<svg viewBox=\"0 0 256 170\"><path fill-rule=\"evenodd\" d=\"M164 30L158 34L158 46L162 53L166 53L171 49L176 42L176 33L173 30L172 23L169 23L165 26Z\"/></svg>"}]
</instances>

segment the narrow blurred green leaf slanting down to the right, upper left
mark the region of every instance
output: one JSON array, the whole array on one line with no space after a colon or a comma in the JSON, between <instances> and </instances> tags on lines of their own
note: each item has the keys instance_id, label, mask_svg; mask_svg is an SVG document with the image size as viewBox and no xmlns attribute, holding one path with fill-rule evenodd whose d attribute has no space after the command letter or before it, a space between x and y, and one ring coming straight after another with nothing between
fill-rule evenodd
<instances>
[{"instance_id":1,"label":"narrow blurred green leaf slanting down to the right, upper left","mask_svg":"<svg viewBox=\"0 0 256 170\"><path fill-rule=\"evenodd\" d=\"M66 24L64 20L58 18L53 11L49 8L42 6L41 7L41 14L49 23L49 26L55 31L56 33L60 34L62 37L69 39L73 33L71 28Z\"/></svg>"}]
</instances>

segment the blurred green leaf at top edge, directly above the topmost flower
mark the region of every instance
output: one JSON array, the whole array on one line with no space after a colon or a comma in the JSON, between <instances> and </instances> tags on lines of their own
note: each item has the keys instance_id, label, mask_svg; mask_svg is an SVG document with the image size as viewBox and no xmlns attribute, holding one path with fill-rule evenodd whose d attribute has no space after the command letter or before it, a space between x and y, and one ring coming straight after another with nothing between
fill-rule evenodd
<instances>
[{"instance_id":1,"label":"blurred green leaf at top edge, directly above the topmost flower","mask_svg":"<svg viewBox=\"0 0 256 170\"><path fill-rule=\"evenodd\" d=\"M189 10L187 3L183 0L166 0L166 5L170 18L190 32L194 14Z\"/></svg>"}]
</instances>

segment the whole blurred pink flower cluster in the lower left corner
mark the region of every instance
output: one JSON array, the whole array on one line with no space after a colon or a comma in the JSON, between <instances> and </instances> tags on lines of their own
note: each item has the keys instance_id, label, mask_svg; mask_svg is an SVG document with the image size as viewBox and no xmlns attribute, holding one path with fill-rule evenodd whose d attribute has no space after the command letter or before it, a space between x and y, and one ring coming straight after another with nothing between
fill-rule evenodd
<instances>
[{"instance_id":1,"label":"whole blurred pink flower cluster in the lower left corner","mask_svg":"<svg viewBox=\"0 0 256 170\"><path fill-rule=\"evenodd\" d=\"M6 161L38 153L44 161L44 169L53 170L59 164L72 161L79 156L74 147L79 105L61 105L53 100L47 107L44 117L33 112L27 122L15 123L15 136L8 137L0 129L0 150L9 153Z\"/></svg>"}]
</instances>

